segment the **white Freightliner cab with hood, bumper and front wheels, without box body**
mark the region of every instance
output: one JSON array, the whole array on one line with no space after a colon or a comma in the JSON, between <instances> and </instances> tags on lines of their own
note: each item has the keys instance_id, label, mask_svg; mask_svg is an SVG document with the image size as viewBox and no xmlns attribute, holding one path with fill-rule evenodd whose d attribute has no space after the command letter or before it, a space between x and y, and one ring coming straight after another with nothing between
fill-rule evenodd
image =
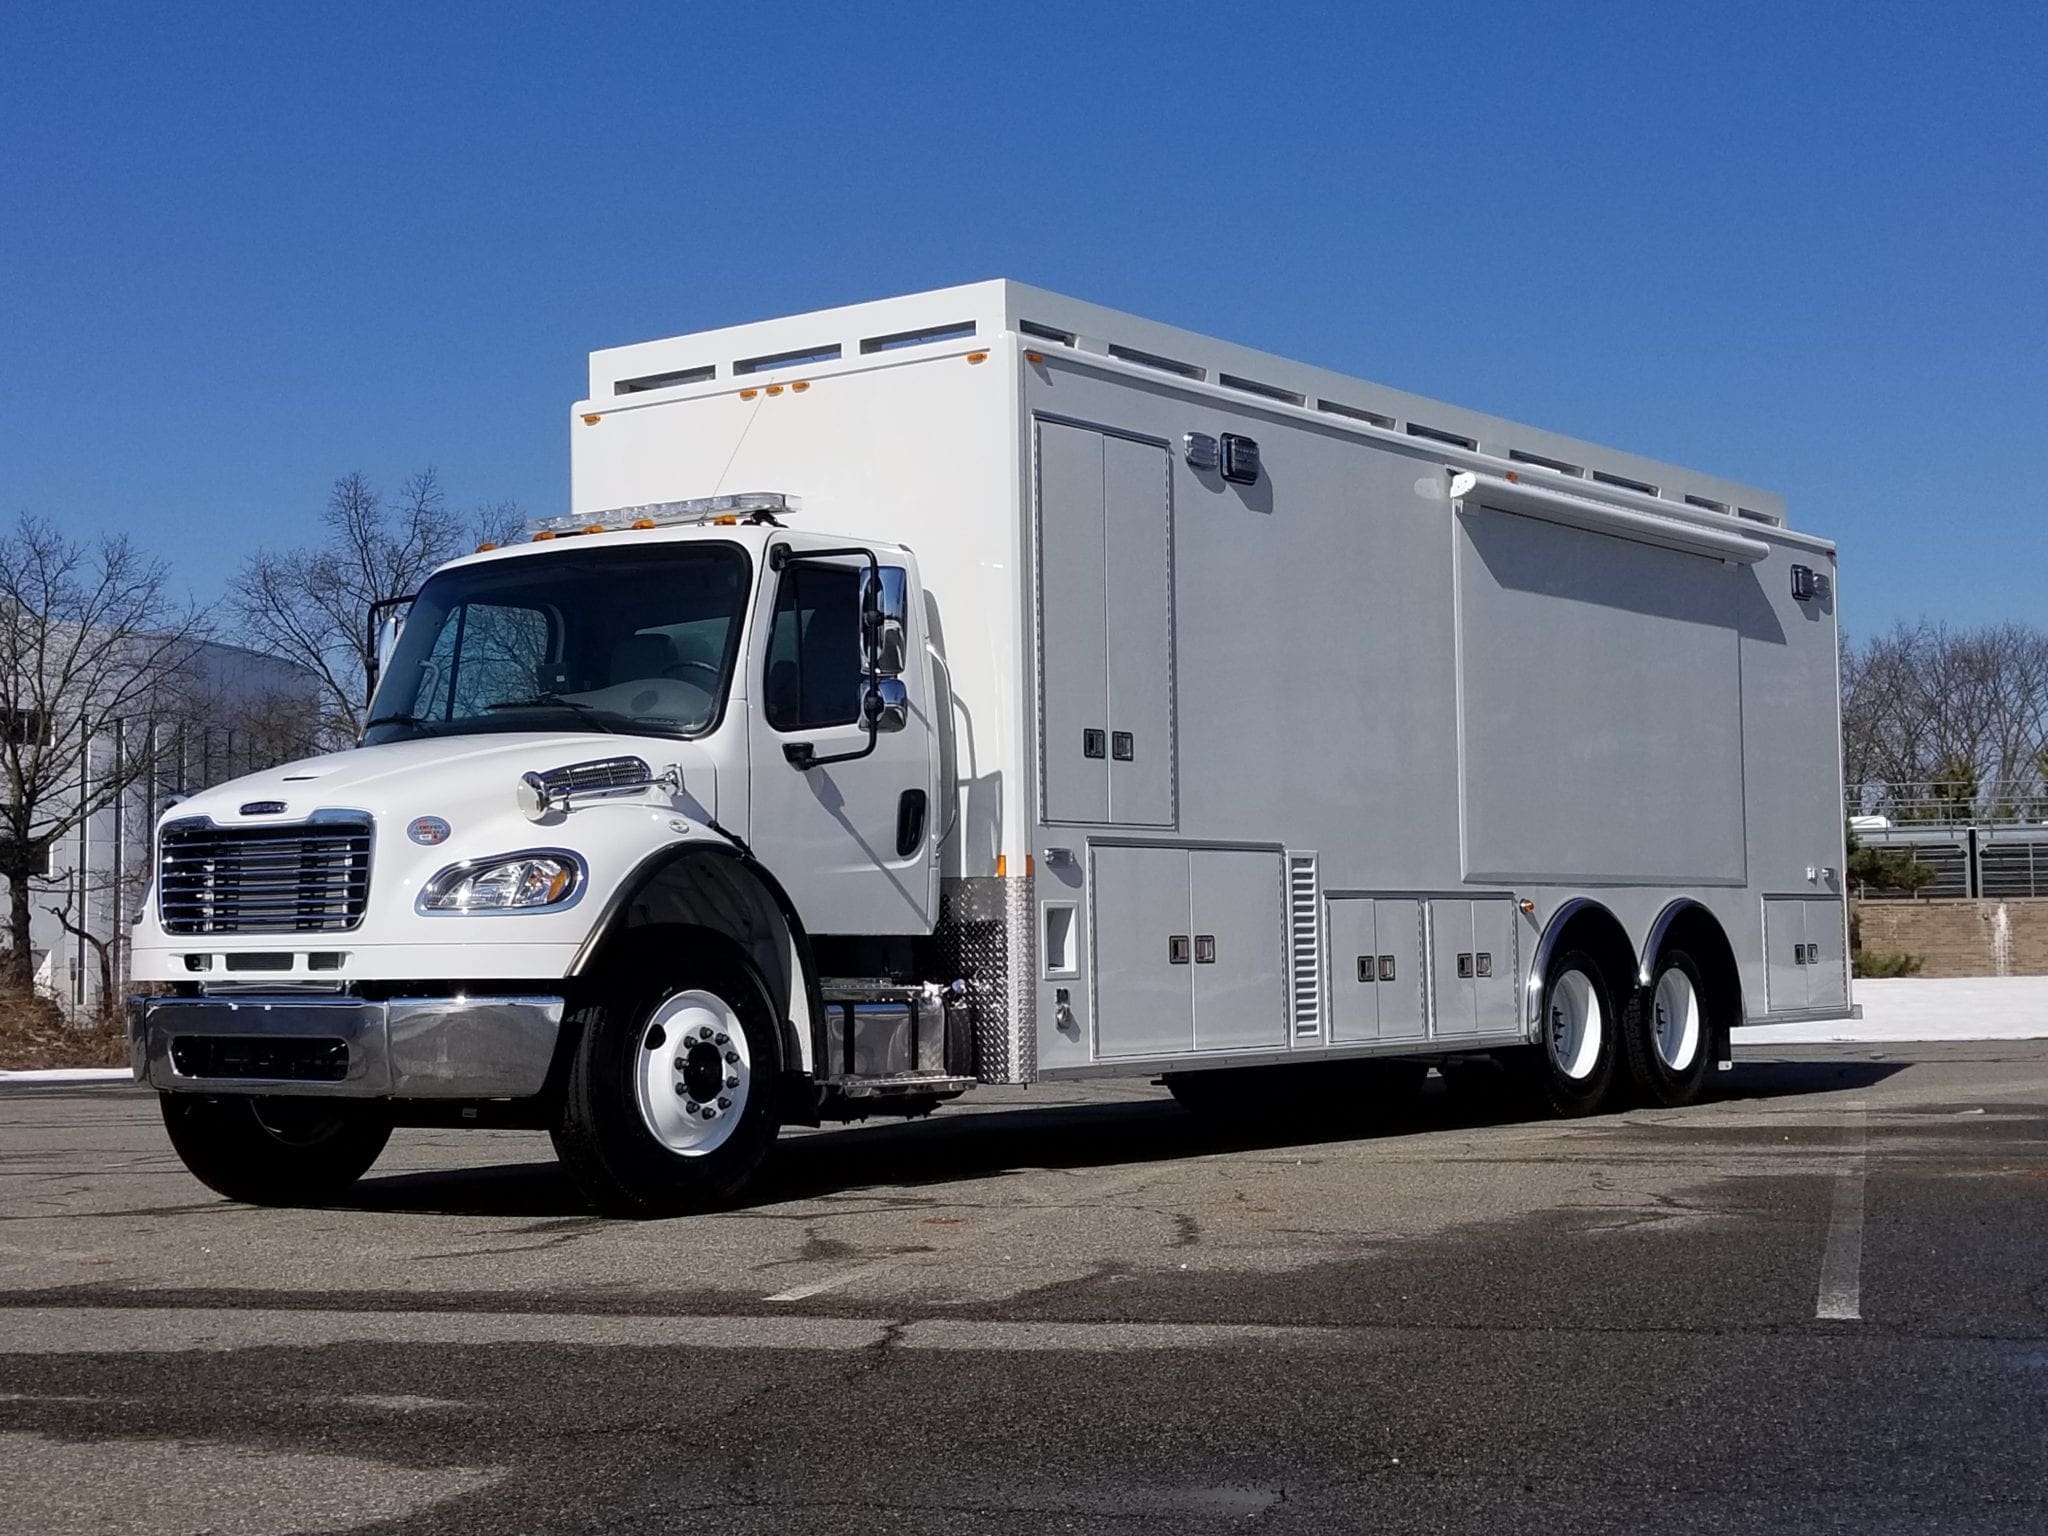
<instances>
[{"instance_id":1,"label":"white Freightliner cab with hood, bumper and front wheels, without box body","mask_svg":"<svg viewBox=\"0 0 2048 1536\"><path fill-rule=\"evenodd\" d=\"M786 1118L971 1085L965 985L922 981L918 563L799 516L635 506L459 559L387 621L356 750L176 805L133 1042L193 1171L319 1198L393 1122L545 1124L651 1212L729 1194Z\"/></svg>"}]
</instances>

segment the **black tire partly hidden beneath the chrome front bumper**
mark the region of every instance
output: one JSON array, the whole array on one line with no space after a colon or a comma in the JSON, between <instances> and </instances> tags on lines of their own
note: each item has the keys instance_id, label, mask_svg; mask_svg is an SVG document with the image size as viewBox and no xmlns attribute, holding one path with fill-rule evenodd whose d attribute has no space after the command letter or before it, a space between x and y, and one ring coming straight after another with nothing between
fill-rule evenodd
<instances>
[{"instance_id":1,"label":"black tire partly hidden beneath the chrome front bumper","mask_svg":"<svg viewBox=\"0 0 2048 1536\"><path fill-rule=\"evenodd\" d=\"M160 1094L170 1145L201 1184L252 1206L322 1206L391 1141L381 1104L254 1094Z\"/></svg>"}]
</instances>

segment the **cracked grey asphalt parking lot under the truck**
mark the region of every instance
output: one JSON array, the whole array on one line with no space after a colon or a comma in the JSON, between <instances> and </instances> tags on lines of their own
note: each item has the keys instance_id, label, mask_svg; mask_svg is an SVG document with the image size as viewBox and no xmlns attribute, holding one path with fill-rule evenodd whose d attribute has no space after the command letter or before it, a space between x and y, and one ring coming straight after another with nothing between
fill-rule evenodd
<instances>
[{"instance_id":1,"label":"cracked grey asphalt parking lot under the truck","mask_svg":"<svg viewBox=\"0 0 2048 1536\"><path fill-rule=\"evenodd\" d=\"M152 1098L6 1090L0 1528L2048 1530L2048 1042L1714 1090L983 1090L647 1225L520 1133L229 1206Z\"/></svg>"}]
</instances>

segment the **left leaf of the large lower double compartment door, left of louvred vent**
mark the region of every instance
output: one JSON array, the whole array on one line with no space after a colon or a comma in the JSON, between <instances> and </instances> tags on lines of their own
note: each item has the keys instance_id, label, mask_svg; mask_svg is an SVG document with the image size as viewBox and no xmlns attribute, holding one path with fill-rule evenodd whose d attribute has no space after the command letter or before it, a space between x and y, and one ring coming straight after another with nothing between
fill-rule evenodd
<instances>
[{"instance_id":1,"label":"left leaf of the large lower double compartment door, left of louvred vent","mask_svg":"<svg viewBox=\"0 0 2048 1536\"><path fill-rule=\"evenodd\" d=\"M1186 850L1096 848L1092 862L1096 1055L1190 1051L1194 924ZM1184 948L1176 948L1174 940Z\"/></svg>"}]
</instances>

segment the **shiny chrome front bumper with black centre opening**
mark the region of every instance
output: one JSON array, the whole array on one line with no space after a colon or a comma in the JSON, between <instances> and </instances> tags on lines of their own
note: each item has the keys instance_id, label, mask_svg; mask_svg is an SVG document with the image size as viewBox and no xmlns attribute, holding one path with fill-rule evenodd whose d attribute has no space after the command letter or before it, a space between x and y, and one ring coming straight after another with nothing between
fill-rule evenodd
<instances>
[{"instance_id":1,"label":"shiny chrome front bumper with black centre opening","mask_svg":"<svg viewBox=\"0 0 2048 1536\"><path fill-rule=\"evenodd\" d=\"M135 1081L172 1094L532 1098L561 997L137 997Z\"/></svg>"}]
</instances>

